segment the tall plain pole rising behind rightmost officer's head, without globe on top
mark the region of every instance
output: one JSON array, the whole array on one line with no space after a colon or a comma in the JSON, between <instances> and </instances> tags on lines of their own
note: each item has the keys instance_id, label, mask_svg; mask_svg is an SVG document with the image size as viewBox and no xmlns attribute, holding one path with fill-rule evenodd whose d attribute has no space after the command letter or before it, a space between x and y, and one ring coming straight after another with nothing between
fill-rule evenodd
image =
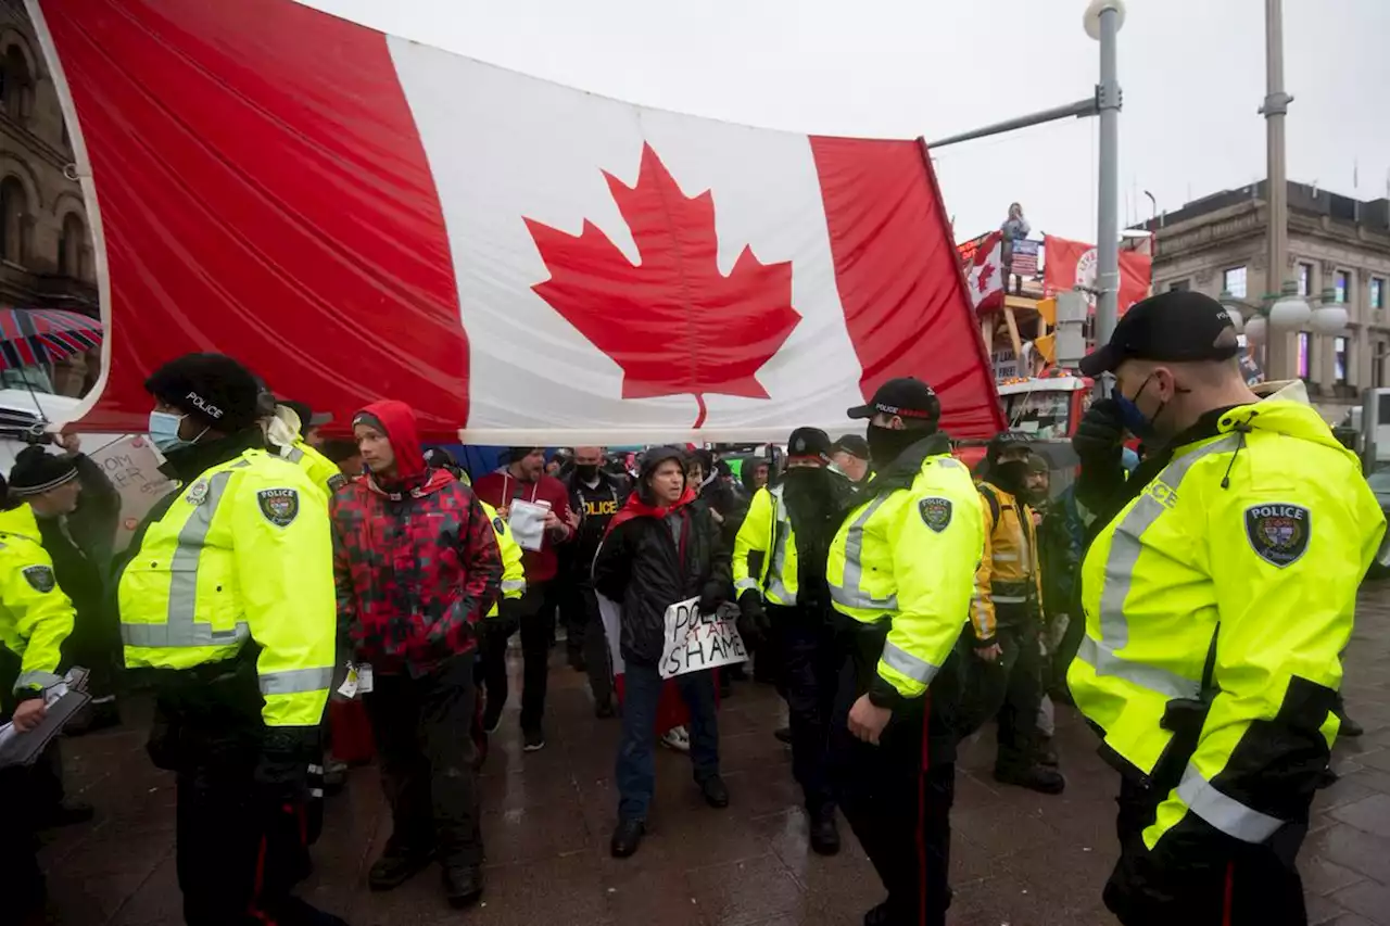
<instances>
[{"instance_id":1,"label":"tall plain pole rising behind rightmost officer's head, without globe on top","mask_svg":"<svg viewBox=\"0 0 1390 926\"><path fill-rule=\"evenodd\" d=\"M1265 292L1277 293L1284 284L1289 259L1289 182L1284 167L1284 115L1294 97L1284 93L1284 15L1282 0L1265 0L1265 115L1268 177L1265 202L1269 203L1269 270ZM1287 380L1289 332L1269 325L1265 346L1265 375Z\"/></svg>"}]
</instances>

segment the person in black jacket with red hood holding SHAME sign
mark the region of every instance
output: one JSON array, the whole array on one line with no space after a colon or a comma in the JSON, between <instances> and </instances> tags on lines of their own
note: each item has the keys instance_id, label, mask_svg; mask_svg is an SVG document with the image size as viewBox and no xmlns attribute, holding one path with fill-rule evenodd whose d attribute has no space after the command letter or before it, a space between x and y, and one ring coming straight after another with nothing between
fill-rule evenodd
<instances>
[{"instance_id":1,"label":"person in black jacket with red hood holding SHAME sign","mask_svg":"<svg viewBox=\"0 0 1390 926\"><path fill-rule=\"evenodd\" d=\"M677 448L642 455L637 487L609 523L594 562L595 590L621 608L624 695L616 767L619 822L610 843L614 858L638 850L656 787L653 749L666 609L699 598L701 613L712 613L730 594L728 552L709 507L685 480L684 456ZM728 787L719 774L713 672L680 674L676 685L691 715L695 783L706 804L728 806Z\"/></svg>"}]
</instances>

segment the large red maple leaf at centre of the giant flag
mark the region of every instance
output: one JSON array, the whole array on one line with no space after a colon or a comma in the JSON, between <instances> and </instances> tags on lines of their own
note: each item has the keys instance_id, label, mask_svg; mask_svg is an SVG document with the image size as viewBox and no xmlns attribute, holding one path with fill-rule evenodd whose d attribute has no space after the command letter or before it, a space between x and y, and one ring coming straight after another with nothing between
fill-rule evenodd
<instances>
[{"instance_id":1,"label":"large red maple leaf at centre of the giant flag","mask_svg":"<svg viewBox=\"0 0 1390 926\"><path fill-rule=\"evenodd\" d=\"M603 177L639 263L588 220L570 235L527 218L550 271L532 289L623 367L624 399L692 393L698 428L705 393L769 398L755 374L801 323L791 261L763 264L745 246L720 274L710 190L685 196L649 145L635 186Z\"/></svg>"}]
</instances>

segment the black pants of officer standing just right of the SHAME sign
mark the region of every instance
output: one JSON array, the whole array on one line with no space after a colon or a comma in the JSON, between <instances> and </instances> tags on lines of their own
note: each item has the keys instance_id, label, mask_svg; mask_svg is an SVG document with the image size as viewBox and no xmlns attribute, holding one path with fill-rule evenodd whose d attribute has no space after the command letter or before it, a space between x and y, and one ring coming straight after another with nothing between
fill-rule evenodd
<instances>
[{"instance_id":1,"label":"black pants of officer standing just right of the SHAME sign","mask_svg":"<svg viewBox=\"0 0 1390 926\"><path fill-rule=\"evenodd\" d=\"M835 804L830 784L830 717L835 706L840 652L824 615L773 605L767 616L781 644L781 694L791 719L791 772L801 784L806 809L817 813Z\"/></svg>"}]
</instances>

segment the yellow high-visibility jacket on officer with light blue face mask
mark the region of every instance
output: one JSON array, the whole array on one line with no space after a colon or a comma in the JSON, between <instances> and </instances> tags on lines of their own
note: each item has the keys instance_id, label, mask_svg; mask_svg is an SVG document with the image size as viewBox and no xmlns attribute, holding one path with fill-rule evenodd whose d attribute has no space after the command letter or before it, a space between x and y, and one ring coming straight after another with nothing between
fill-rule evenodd
<instances>
[{"instance_id":1,"label":"yellow high-visibility jacket on officer with light blue face mask","mask_svg":"<svg viewBox=\"0 0 1390 926\"><path fill-rule=\"evenodd\" d=\"M125 665L192 669L254 640L265 724L316 726L336 633L327 503L259 449L183 485L121 574Z\"/></svg>"}]
</instances>

